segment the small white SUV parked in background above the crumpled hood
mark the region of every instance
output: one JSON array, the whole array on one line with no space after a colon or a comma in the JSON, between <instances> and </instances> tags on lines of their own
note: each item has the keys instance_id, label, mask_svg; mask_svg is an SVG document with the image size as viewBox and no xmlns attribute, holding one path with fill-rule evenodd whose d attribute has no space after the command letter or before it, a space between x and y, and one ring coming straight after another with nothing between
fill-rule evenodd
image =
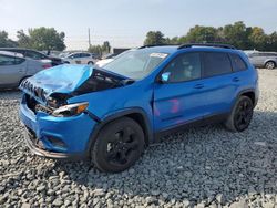
<instances>
[{"instance_id":1,"label":"small white SUV parked in background above the crumpled hood","mask_svg":"<svg viewBox=\"0 0 277 208\"><path fill-rule=\"evenodd\" d=\"M93 65L96 63L99 55L95 53L88 53L88 52L76 52L71 53L63 59L64 63L70 64L89 64Z\"/></svg>"}]
</instances>

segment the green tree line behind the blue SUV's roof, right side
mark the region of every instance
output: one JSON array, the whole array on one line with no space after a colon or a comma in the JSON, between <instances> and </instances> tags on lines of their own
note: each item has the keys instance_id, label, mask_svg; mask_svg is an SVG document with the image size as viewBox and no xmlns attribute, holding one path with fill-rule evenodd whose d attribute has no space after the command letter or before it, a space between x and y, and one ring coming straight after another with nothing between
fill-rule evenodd
<instances>
[{"instance_id":1,"label":"green tree line behind the blue SUV's roof, right side","mask_svg":"<svg viewBox=\"0 0 277 208\"><path fill-rule=\"evenodd\" d=\"M227 43L242 50L277 51L277 32L266 34L263 28L247 27L243 21L219 28L195 25L185 35L166 38L161 31L150 31L144 45L184 43Z\"/></svg>"}]
</instances>

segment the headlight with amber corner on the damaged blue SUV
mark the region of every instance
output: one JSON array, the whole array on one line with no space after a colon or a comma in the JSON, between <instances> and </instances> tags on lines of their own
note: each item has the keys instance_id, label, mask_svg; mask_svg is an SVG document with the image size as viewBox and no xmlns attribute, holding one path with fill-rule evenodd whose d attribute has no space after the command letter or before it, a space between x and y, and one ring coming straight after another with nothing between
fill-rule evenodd
<instances>
[{"instance_id":1,"label":"headlight with amber corner on the damaged blue SUV","mask_svg":"<svg viewBox=\"0 0 277 208\"><path fill-rule=\"evenodd\" d=\"M69 117L83 113L89 106L88 102L63 105L54 110L52 115L58 117Z\"/></svg>"}]
</instances>

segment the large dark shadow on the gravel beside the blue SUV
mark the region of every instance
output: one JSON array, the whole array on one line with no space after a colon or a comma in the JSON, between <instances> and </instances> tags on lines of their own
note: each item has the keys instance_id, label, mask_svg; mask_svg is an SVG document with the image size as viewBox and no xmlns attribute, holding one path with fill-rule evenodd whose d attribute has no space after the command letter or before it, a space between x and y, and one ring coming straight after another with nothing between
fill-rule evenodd
<instances>
[{"instance_id":1,"label":"large dark shadow on the gravel beside the blue SUV","mask_svg":"<svg viewBox=\"0 0 277 208\"><path fill-rule=\"evenodd\" d=\"M226 205L245 196L247 204L275 200L277 113L256 111L243 133L213 125L164 137L120 174L100 173L89 163L57 162L55 168L94 193L142 197L148 204Z\"/></svg>"}]
</instances>

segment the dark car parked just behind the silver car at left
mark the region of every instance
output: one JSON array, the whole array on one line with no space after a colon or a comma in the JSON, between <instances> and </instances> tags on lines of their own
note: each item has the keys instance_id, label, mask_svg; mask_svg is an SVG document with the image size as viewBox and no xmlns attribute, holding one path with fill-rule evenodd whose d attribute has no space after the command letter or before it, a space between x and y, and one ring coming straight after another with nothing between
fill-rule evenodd
<instances>
[{"instance_id":1,"label":"dark car parked just behind the silver car at left","mask_svg":"<svg viewBox=\"0 0 277 208\"><path fill-rule=\"evenodd\" d=\"M30 58L33 60L50 60L52 66L63 64L61 58L45 55L39 51L31 50L31 49L0 48L0 51L11 51L11 52L16 52L16 53L21 53L24 58Z\"/></svg>"}]
</instances>

